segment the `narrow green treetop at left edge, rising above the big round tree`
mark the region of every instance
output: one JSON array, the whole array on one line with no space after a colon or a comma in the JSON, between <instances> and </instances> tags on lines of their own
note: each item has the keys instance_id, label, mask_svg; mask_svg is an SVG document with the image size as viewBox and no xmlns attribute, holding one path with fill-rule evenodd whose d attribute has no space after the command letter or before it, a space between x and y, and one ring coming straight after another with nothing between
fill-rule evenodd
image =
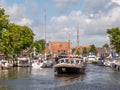
<instances>
[{"instance_id":1,"label":"narrow green treetop at left edge, rising above the big round tree","mask_svg":"<svg viewBox=\"0 0 120 90\"><path fill-rule=\"evenodd\" d=\"M3 8L0 8L0 39L1 39L1 34L4 30L7 29L8 27L8 20L9 15L5 14L5 10Z\"/></svg>"}]
</instances>

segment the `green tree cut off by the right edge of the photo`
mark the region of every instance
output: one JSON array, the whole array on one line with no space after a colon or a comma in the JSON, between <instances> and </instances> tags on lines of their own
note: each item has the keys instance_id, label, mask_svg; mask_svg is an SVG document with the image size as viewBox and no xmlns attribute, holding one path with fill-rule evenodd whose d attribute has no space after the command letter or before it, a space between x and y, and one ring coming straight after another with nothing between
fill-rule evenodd
<instances>
[{"instance_id":1,"label":"green tree cut off by the right edge of the photo","mask_svg":"<svg viewBox=\"0 0 120 90\"><path fill-rule=\"evenodd\" d=\"M110 44L117 53L120 53L120 29L118 27L107 29L107 33L109 34Z\"/></svg>"}]
</instances>

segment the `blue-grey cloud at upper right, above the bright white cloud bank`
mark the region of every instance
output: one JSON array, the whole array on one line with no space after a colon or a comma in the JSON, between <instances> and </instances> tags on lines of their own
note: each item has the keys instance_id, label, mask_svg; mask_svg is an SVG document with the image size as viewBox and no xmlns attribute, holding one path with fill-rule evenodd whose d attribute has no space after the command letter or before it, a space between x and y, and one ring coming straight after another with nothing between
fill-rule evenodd
<instances>
[{"instance_id":1,"label":"blue-grey cloud at upper right, above the bright white cloud bank","mask_svg":"<svg viewBox=\"0 0 120 90\"><path fill-rule=\"evenodd\" d=\"M117 5L112 0L86 0L83 13L96 14L99 17L100 14L106 14L115 7Z\"/></svg>"}]
</instances>

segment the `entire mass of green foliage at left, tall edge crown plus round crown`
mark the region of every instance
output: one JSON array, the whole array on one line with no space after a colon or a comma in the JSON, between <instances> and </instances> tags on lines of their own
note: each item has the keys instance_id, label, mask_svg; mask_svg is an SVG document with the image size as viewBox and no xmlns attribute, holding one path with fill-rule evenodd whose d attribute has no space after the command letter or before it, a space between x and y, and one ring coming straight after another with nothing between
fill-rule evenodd
<instances>
[{"instance_id":1,"label":"entire mass of green foliage at left, tall edge crown plus round crown","mask_svg":"<svg viewBox=\"0 0 120 90\"><path fill-rule=\"evenodd\" d=\"M15 55L29 48L34 33L28 26L20 26L9 22L9 15L0 8L0 52L6 56Z\"/></svg>"}]
</instances>

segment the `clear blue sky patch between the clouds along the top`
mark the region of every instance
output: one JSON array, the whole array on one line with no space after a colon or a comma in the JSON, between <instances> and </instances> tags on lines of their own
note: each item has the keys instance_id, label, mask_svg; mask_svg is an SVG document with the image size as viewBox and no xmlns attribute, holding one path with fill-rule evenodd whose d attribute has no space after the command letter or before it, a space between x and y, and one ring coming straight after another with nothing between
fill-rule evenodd
<instances>
[{"instance_id":1,"label":"clear blue sky patch between the clouds along the top","mask_svg":"<svg viewBox=\"0 0 120 90\"><path fill-rule=\"evenodd\" d=\"M60 0L56 0L60 1ZM61 15L68 15L71 10L82 10L82 7L84 7L85 0L77 1L75 3L69 3L69 0L63 0L63 2L66 2L66 4L62 6L56 6L56 1L55 0L5 0L6 5L8 6L13 6L13 5L21 5L23 3L26 3L28 8L32 8L32 4L35 4L37 7L37 18L42 18L43 19L43 11L46 9L46 16L47 16L47 22L49 23L49 20L53 16L61 16ZM72 0L71 0L72 1ZM74 1L74 0L73 0ZM32 3L32 4L31 4ZM63 3L61 3L63 4ZM27 12L30 12L27 11ZM26 13L27 13L26 12ZM33 15L28 14L27 15L30 18L34 18Z\"/></svg>"}]
</instances>

